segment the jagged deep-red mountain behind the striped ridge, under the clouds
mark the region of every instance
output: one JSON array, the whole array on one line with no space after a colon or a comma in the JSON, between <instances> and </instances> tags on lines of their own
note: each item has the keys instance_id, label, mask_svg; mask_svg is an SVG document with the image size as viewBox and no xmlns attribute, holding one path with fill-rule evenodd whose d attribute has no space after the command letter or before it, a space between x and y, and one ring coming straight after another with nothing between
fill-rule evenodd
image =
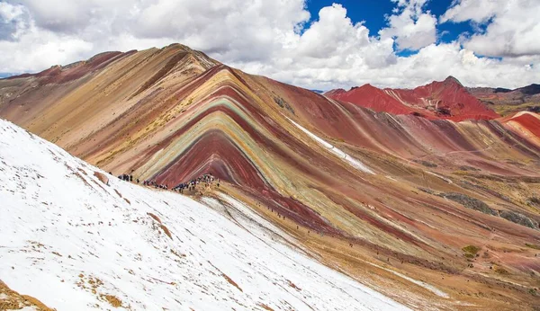
<instances>
[{"instance_id":1,"label":"jagged deep-red mountain behind the striped ridge, under the clouds","mask_svg":"<svg viewBox=\"0 0 540 311\"><path fill-rule=\"evenodd\" d=\"M445 81L409 89L379 89L371 84L353 87L349 91L332 90L329 98L352 102L374 111L392 114L415 114L428 119L491 120L498 118L480 100L468 93L453 76Z\"/></svg>"}]
</instances>

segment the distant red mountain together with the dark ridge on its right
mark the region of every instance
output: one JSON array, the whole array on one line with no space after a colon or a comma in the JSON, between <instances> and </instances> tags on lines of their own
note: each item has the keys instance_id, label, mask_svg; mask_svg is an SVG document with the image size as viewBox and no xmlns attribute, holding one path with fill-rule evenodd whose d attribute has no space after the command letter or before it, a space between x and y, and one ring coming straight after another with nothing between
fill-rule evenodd
<instances>
[{"instance_id":1,"label":"distant red mountain together with the dark ridge on its right","mask_svg":"<svg viewBox=\"0 0 540 311\"><path fill-rule=\"evenodd\" d=\"M413 114L431 120L491 120L511 111L537 111L540 85L531 84L516 90L464 87L455 77L415 89L380 89L371 84L325 93L329 98L352 102L374 111ZM524 105L525 104L525 105ZM499 112L499 113L498 113Z\"/></svg>"}]
</instances>

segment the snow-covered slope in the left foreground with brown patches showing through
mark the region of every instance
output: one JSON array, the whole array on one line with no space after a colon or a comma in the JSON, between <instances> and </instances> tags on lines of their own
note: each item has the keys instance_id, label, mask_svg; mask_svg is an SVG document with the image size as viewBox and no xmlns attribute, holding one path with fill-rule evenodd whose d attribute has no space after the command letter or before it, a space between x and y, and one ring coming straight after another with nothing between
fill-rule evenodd
<instances>
[{"instance_id":1,"label":"snow-covered slope in the left foreground with brown patches showing through","mask_svg":"<svg viewBox=\"0 0 540 311\"><path fill-rule=\"evenodd\" d=\"M58 310L406 308L237 200L108 177L0 120L0 279Z\"/></svg>"}]
</instances>

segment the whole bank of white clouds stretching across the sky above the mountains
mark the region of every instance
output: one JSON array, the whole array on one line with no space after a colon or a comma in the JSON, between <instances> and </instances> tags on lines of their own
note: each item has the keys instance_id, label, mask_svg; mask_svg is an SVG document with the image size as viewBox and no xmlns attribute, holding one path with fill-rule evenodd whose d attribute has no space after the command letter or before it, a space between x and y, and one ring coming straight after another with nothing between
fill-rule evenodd
<instances>
[{"instance_id":1,"label":"whole bank of white clouds stretching across the sky above the mountains","mask_svg":"<svg viewBox=\"0 0 540 311\"><path fill-rule=\"evenodd\" d=\"M502 58L478 56L492 55L482 50L482 40L496 47L491 36L500 35L497 25L509 27L516 18L509 11L526 0L513 0L508 12L504 5L489 6L499 1L490 0L475 13L467 10L475 2L463 0L438 21L426 11L427 1L393 0L395 9L382 17L387 26L374 33L351 21L341 4L311 16L305 0L0 0L0 73L180 42L248 73L308 88L411 87L450 75L467 85L538 82L540 52L527 39L538 23L530 13L516 19L522 26L509 28L513 35L505 40L511 48L491 49ZM437 42L437 22L462 21L487 24L486 31ZM418 52L400 57L402 49Z\"/></svg>"}]
</instances>

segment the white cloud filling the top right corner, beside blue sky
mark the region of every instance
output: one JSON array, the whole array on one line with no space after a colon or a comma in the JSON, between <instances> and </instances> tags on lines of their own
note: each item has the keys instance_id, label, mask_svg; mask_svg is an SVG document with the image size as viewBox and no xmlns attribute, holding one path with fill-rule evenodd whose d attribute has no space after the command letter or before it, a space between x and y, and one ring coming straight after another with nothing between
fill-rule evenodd
<instances>
[{"instance_id":1,"label":"white cloud filling the top right corner, beside blue sky","mask_svg":"<svg viewBox=\"0 0 540 311\"><path fill-rule=\"evenodd\" d=\"M487 23L483 33L464 40L464 47L489 57L540 55L538 0L462 0L441 16L441 22Z\"/></svg>"}]
</instances>

